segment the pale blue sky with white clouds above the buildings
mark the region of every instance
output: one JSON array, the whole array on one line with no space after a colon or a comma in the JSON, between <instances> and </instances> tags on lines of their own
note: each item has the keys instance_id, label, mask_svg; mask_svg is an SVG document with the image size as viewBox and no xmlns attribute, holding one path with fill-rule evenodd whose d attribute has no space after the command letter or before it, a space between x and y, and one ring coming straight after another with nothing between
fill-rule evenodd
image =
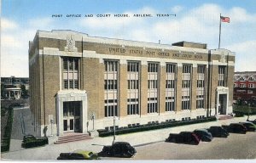
<instances>
[{"instance_id":1,"label":"pale blue sky with white clouds above the buildings","mask_svg":"<svg viewBox=\"0 0 256 163\"><path fill-rule=\"evenodd\" d=\"M203 42L236 52L236 70L256 70L255 0L2 0L2 76L28 76L28 41L37 30L73 30L143 42ZM62 14L62 18L52 18ZM67 18L67 14L177 14L168 18Z\"/></svg>"}]
</instances>

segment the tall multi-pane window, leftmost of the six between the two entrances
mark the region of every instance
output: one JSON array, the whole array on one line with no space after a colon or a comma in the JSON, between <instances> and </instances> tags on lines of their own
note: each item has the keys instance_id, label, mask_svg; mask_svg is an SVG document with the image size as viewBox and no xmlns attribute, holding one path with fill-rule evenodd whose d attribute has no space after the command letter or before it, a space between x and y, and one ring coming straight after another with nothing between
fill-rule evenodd
<instances>
[{"instance_id":1,"label":"tall multi-pane window, leftmost of the six between the two entrances","mask_svg":"<svg viewBox=\"0 0 256 163\"><path fill-rule=\"evenodd\" d=\"M104 60L105 117L119 115L118 110L118 61Z\"/></svg>"}]
</instances>

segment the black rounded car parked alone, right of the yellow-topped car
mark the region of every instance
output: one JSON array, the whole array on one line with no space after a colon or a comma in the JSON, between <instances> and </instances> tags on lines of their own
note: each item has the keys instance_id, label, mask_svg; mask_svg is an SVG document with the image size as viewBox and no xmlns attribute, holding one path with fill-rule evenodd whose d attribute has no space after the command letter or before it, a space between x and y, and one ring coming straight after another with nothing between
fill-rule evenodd
<instances>
[{"instance_id":1,"label":"black rounded car parked alone, right of the yellow-topped car","mask_svg":"<svg viewBox=\"0 0 256 163\"><path fill-rule=\"evenodd\" d=\"M115 142L113 145L104 146L102 153L114 157L132 157L137 153L137 151L130 143Z\"/></svg>"}]
</instances>

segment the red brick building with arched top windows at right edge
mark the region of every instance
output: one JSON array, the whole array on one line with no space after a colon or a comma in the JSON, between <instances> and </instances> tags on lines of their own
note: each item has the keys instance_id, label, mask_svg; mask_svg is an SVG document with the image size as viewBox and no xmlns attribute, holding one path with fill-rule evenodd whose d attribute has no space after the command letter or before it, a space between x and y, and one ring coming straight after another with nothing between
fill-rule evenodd
<instances>
[{"instance_id":1,"label":"red brick building with arched top windows at right edge","mask_svg":"<svg viewBox=\"0 0 256 163\"><path fill-rule=\"evenodd\" d=\"M256 71L235 72L234 100L256 98Z\"/></svg>"}]
</instances>

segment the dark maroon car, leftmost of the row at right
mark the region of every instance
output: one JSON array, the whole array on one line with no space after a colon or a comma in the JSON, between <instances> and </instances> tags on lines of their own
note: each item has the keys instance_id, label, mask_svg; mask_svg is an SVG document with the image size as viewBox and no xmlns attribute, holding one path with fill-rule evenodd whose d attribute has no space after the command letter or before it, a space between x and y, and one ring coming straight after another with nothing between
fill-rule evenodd
<instances>
[{"instance_id":1,"label":"dark maroon car, leftmost of the row at right","mask_svg":"<svg viewBox=\"0 0 256 163\"><path fill-rule=\"evenodd\" d=\"M194 132L179 132L170 133L169 137L166 138L166 142L172 143L190 143L197 145L201 139L196 136Z\"/></svg>"}]
</instances>

